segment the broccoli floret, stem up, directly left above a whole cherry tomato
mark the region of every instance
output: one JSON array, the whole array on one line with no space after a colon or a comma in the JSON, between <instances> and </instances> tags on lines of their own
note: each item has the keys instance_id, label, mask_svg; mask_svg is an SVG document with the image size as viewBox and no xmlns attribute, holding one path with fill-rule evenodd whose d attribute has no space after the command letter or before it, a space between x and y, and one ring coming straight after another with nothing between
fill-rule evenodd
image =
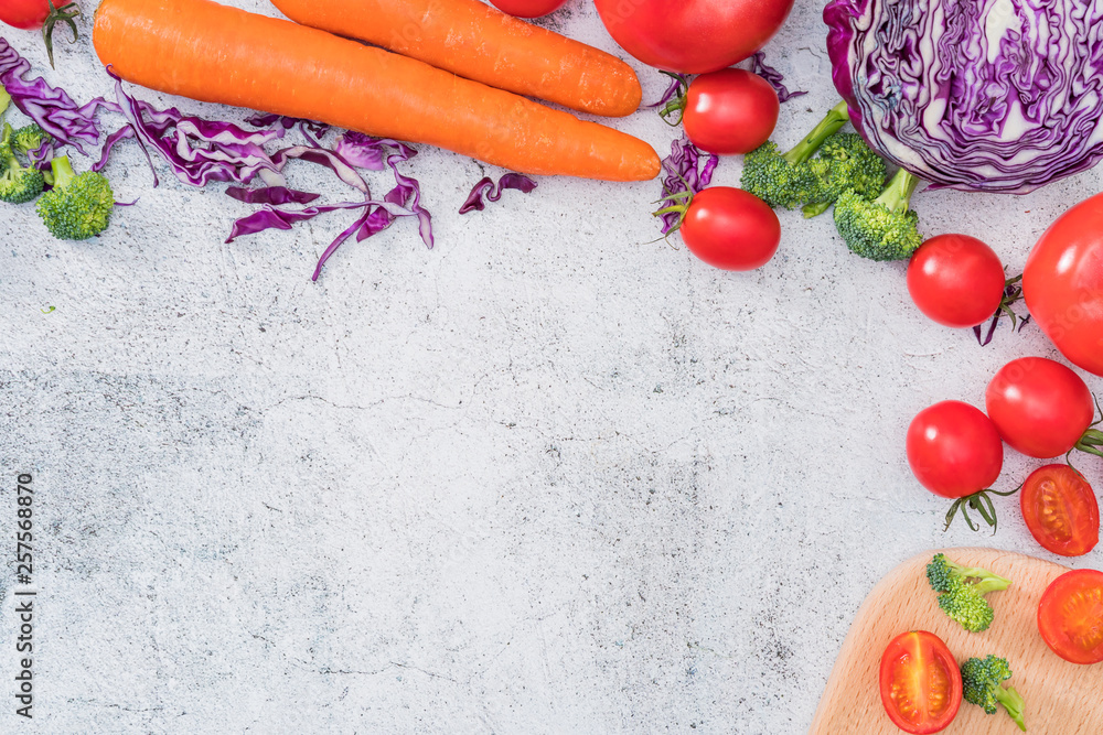
<instances>
[{"instance_id":1,"label":"broccoli floret, stem up, directly left above a whole cherry tomato","mask_svg":"<svg viewBox=\"0 0 1103 735\"><path fill-rule=\"evenodd\" d=\"M923 244L919 215L908 208L919 179L900 169L880 196L869 201L849 188L835 201L835 229L863 258L903 260Z\"/></svg>"}]
</instances>

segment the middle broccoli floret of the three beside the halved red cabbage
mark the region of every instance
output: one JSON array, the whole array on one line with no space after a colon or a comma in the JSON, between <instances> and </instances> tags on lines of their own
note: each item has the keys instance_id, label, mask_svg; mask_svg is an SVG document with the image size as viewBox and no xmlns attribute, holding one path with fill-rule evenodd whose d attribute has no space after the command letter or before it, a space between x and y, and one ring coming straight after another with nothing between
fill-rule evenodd
<instances>
[{"instance_id":1,"label":"middle broccoli floret of the three beside the halved red cabbage","mask_svg":"<svg viewBox=\"0 0 1103 735\"><path fill-rule=\"evenodd\" d=\"M885 161L856 132L836 132L825 140L808 167L815 174L816 186L803 209L805 217L826 212L848 188L871 199L885 186Z\"/></svg>"}]
</instances>

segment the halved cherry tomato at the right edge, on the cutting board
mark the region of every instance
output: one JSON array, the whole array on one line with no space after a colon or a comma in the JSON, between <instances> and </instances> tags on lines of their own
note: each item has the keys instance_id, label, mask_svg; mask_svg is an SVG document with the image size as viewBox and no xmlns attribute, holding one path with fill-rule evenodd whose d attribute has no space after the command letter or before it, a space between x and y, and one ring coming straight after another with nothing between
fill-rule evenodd
<instances>
[{"instance_id":1,"label":"halved cherry tomato at the right edge, on the cutting board","mask_svg":"<svg viewBox=\"0 0 1103 735\"><path fill-rule=\"evenodd\" d=\"M1038 630L1065 661L1103 661L1103 572L1078 569L1053 580L1038 605Z\"/></svg>"}]
</instances>

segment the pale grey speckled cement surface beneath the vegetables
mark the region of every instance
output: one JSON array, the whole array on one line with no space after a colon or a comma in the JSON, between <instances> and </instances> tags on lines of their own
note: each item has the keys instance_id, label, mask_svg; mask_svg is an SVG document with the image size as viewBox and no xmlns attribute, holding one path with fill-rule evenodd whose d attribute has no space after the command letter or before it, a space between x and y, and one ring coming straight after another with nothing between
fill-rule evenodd
<instances>
[{"instance_id":1,"label":"pale grey speckled cement surface beneath the vegetables","mask_svg":"<svg viewBox=\"0 0 1103 735\"><path fill-rule=\"evenodd\" d=\"M82 4L84 39L46 76L84 100L110 86ZM786 145L835 101L818 15L799 3L767 48L811 90L782 107ZM588 2L548 22L614 50ZM34 34L7 37L46 68ZM655 99L664 78L636 68ZM662 154L675 134L649 112L617 126ZM778 257L724 273L654 241L655 182L545 179L460 217L483 167L422 150L407 171L436 249L400 221L311 283L346 216L227 246L248 208L160 171L152 190L119 149L108 173L141 199L93 242L53 240L31 207L0 218L0 731L801 733L897 563L966 544L1052 558L1014 500L995 537L943 533L903 432L1056 352L1030 327L982 349L927 321L902 266L849 256L827 217L783 213ZM978 236L1018 271L1100 186L914 204L925 233ZM1038 464L1008 451L999 486ZM21 472L32 722L12 696Z\"/></svg>"}]
</instances>

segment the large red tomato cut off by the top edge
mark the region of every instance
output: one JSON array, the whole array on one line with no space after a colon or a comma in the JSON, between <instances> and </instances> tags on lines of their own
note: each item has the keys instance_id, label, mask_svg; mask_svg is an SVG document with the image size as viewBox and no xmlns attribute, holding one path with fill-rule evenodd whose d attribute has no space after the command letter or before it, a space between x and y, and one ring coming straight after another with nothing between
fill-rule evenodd
<instances>
[{"instance_id":1,"label":"large red tomato cut off by the top edge","mask_svg":"<svg viewBox=\"0 0 1103 735\"><path fill-rule=\"evenodd\" d=\"M609 34L649 66L718 72L765 45L793 0L595 0Z\"/></svg>"}]
</instances>

